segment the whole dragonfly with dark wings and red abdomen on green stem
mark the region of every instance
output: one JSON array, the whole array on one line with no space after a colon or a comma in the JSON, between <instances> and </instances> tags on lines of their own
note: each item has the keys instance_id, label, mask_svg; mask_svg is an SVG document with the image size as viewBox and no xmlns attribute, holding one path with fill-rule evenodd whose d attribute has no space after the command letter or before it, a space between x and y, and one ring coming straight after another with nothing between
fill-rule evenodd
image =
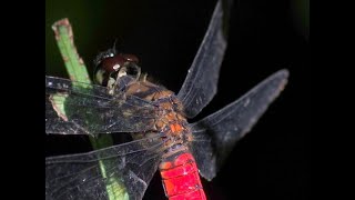
<instances>
[{"instance_id":1,"label":"whole dragonfly with dark wings and red abdomen on green stem","mask_svg":"<svg viewBox=\"0 0 355 200\"><path fill-rule=\"evenodd\" d=\"M94 84L45 76L48 134L130 137L103 149L45 158L45 199L142 199L158 170L168 199L206 199L200 176L209 181L216 176L288 78L282 69L190 123L217 91L226 49L223 13L219 1L178 94L149 81L136 57L114 49L99 54Z\"/></svg>"}]
</instances>

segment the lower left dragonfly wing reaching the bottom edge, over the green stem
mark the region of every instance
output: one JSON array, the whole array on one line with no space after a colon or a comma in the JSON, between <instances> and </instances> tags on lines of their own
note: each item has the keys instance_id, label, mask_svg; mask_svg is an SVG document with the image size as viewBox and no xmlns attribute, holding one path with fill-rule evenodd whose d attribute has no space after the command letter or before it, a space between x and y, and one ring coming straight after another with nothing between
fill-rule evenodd
<instances>
[{"instance_id":1,"label":"lower left dragonfly wing reaching the bottom edge, over the green stem","mask_svg":"<svg viewBox=\"0 0 355 200\"><path fill-rule=\"evenodd\" d=\"M161 136L45 159L45 199L142 199L161 159ZM104 169L104 170L102 170Z\"/></svg>"}]
</instances>

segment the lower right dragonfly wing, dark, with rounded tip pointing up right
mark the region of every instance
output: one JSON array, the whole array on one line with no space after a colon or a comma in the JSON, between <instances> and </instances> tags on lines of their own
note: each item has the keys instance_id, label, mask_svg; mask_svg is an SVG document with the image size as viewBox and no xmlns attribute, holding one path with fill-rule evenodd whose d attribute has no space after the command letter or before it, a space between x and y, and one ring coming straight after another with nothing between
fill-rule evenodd
<instances>
[{"instance_id":1,"label":"lower right dragonfly wing, dark, with rounded tip pointing up right","mask_svg":"<svg viewBox=\"0 0 355 200\"><path fill-rule=\"evenodd\" d=\"M281 70L236 101L192 124L191 149L202 177L212 180L237 140L247 133L287 82Z\"/></svg>"}]
</instances>

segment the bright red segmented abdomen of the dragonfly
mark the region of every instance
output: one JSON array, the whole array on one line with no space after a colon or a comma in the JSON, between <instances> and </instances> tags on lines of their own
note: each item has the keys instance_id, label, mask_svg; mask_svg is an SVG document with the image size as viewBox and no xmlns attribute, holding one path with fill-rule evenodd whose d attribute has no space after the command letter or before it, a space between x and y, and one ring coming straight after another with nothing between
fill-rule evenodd
<instances>
[{"instance_id":1,"label":"bright red segmented abdomen of the dragonfly","mask_svg":"<svg viewBox=\"0 0 355 200\"><path fill-rule=\"evenodd\" d=\"M159 168L170 200L206 199L195 159L190 152L183 152L172 161L163 161Z\"/></svg>"}]
</instances>

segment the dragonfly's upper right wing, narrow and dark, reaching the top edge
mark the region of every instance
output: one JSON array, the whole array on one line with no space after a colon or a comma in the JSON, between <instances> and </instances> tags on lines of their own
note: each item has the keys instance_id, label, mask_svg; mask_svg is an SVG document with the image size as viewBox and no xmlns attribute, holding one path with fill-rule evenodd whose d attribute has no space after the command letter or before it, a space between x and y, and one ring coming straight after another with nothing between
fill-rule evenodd
<instances>
[{"instance_id":1,"label":"dragonfly's upper right wing, narrow and dark, reaching the top edge","mask_svg":"<svg viewBox=\"0 0 355 200\"><path fill-rule=\"evenodd\" d=\"M220 67L226 48L223 13L220 0L186 79L178 93L187 118L195 117L216 93Z\"/></svg>"}]
</instances>

